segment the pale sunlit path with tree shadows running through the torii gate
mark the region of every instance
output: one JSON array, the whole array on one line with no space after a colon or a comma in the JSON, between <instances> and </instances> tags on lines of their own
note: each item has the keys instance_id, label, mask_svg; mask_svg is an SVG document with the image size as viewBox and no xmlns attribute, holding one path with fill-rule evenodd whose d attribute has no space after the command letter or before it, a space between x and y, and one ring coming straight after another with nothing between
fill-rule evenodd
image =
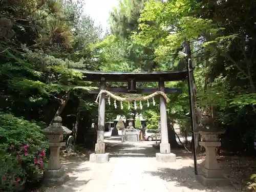
<instances>
[{"instance_id":1,"label":"pale sunlit path with tree shadows running through the torii gate","mask_svg":"<svg viewBox=\"0 0 256 192\"><path fill-rule=\"evenodd\" d=\"M231 188L205 188L197 182L191 158L177 157L176 163L159 163L150 142L121 143L106 139L111 153L108 163L79 163L63 192L230 192ZM67 165L69 167L69 165Z\"/></svg>"}]
</instances>

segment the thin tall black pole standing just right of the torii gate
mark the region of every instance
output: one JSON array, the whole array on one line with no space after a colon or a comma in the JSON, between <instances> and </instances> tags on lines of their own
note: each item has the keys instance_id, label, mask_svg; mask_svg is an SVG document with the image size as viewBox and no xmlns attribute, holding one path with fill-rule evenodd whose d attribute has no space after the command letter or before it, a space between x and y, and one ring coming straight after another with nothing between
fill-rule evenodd
<instances>
[{"instance_id":1,"label":"thin tall black pole standing just right of the torii gate","mask_svg":"<svg viewBox=\"0 0 256 192\"><path fill-rule=\"evenodd\" d=\"M195 168L195 175L198 175L197 172L197 153L196 153L196 140L195 140L195 101L193 97L195 97L193 93L193 82L194 82L194 72L192 67L191 61L191 51L190 51L190 44L185 39L185 50L186 50L186 60L187 60L187 71L188 71L188 96L189 96L189 106L190 106L190 121L191 121L191 131L192 131L192 146L193 146L193 158L194 158L194 168ZM191 83L192 82L192 83Z\"/></svg>"}]
</instances>

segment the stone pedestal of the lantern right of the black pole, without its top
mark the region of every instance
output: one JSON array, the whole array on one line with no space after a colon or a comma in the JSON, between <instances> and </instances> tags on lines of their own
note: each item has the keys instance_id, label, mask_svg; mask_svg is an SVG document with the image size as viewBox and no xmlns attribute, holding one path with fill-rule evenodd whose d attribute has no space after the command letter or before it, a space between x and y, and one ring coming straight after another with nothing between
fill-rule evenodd
<instances>
[{"instance_id":1,"label":"stone pedestal of the lantern right of the black pole, without its top","mask_svg":"<svg viewBox=\"0 0 256 192\"><path fill-rule=\"evenodd\" d=\"M218 141L219 133L200 131L199 134L202 138L199 144L205 147L206 157L202 172L198 175L198 181L207 187L228 185L229 182L224 179L223 170L216 159L215 149L221 146L221 142Z\"/></svg>"}]
</instances>

